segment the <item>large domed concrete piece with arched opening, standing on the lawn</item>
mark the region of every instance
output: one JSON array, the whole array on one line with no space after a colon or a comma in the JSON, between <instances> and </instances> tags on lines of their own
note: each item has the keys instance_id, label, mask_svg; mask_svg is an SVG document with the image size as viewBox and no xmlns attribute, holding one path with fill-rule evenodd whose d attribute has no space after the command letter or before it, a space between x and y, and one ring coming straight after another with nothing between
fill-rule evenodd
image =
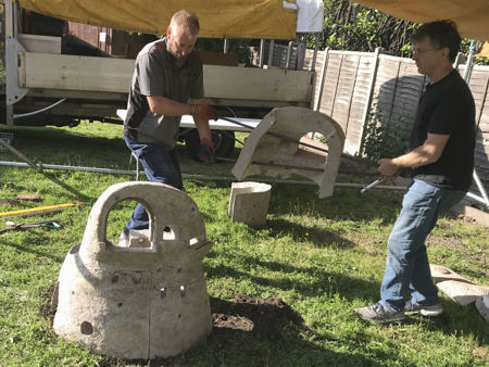
<instances>
[{"instance_id":1,"label":"large domed concrete piece with arched opening, standing on the lawn","mask_svg":"<svg viewBox=\"0 0 489 367\"><path fill-rule=\"evenodd\" d=\"M149 246L122 248L106 239L109 213L124 200L147 208ZM110 187L61 268L54 331L97 353L130 359L190 347L212 329L202 273L211 245L196 203L184 192L153 182Z\"/></svg>"}]
</instances>

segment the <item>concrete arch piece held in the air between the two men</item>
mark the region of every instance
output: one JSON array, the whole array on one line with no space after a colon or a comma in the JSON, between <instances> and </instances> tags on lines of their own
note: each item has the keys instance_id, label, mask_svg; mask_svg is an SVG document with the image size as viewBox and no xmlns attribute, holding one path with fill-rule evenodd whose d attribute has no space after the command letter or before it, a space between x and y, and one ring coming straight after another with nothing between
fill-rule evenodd
<instances>
[{"instance_id":1,"label":"concrete arch piece held in the air between the two men","mask_svg":"<svg viewBox=\"0 0 489 367\"><path fill-rule=\"evenodd\" d=\"M268 134L300 140L310 131L321 132L327 139L328 153ZM330 197L343 144L344 132L331 117L304 107L274 109L248 137L238 162L233 167L233 174L238 180L253 175L283 178L292 174L301 175L317 184L319 198ZM269 166L263 165L264 163L312 169Z\"/></svg>"}]
</instances>

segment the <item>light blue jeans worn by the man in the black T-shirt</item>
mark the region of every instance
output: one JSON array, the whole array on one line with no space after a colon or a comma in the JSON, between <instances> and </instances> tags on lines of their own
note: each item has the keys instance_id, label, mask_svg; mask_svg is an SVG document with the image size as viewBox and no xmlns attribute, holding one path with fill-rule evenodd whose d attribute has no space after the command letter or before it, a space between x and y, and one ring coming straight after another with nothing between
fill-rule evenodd
<instances>
[{"instance_id":1,"label":"light blue jeans worn by the man in the black T-shirt","mask_svg":"<svg viewBox=\"0 0 489 367\"><path fill-rule=\"evenodd\" d=\"M440 302L429 270L425 240L438 216L464 195L464 191L439 189L416 179L410 186L387 243L386 271L380 287L383 306L402 311L408 293L413 303L428 306Z\"/></svg>"}]
</instances>

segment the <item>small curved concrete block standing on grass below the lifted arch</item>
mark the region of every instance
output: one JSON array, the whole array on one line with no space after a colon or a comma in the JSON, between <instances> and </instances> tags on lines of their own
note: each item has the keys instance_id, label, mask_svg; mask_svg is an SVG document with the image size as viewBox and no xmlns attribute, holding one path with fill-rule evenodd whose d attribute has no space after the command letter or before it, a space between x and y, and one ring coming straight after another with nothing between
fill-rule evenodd
<instances>
[{"instance_id":1,"label":"small curved concrete block standing on grass below the lifted arch","mask_svg":"<svg viewBox=\"0 0 489 367\"><path fill-rule=\"evenodd\" d=\"M272 186L260 182L233 182L228 214L231 222L264 226Z\"/></svg>"}]
</instances>

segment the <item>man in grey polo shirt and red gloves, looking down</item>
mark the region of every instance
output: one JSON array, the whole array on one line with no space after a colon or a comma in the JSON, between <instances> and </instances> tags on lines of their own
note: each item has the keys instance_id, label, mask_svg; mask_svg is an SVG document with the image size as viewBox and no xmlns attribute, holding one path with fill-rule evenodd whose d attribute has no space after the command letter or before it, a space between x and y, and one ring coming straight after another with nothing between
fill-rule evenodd
<instances>
[{"instance_id":1,"label":"man in grey polo shirt and red gloves, looking down","mask_svg":"<svg viewBox=\"0 0 489 367\"><path fill-rule=\"evenodd\" d=\"M181 115L193 116L201 143L199 159L213 162L215 153L209 129L215 111L204 103L202 63L193 51L199 29L197 15L180 10L173 15L166 37L139 52L124 121L124 140L148 179L180 190L175 144ZM148 227L148 214L138 204L121 238L127 240L130 229Z\"/></svg>"}]
</instances>

